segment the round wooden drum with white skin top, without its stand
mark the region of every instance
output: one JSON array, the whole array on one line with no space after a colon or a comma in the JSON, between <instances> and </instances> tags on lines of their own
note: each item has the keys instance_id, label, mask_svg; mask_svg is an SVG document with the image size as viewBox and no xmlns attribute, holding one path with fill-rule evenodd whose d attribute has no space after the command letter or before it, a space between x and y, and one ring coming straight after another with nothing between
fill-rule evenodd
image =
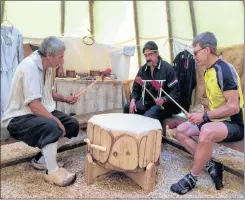
<instances>
[{"instance_id":1,"label":"round wooden drum with white skin top, without its stand","mask_svg":"<svg viewBox=\"0 0 245 200\"><path fill-rule=\"evenodd\" d=\"M162 126L156 119L123 113L95 115L88 121L87 135L93 160L106 169L146 168L160 156Z\"/></svg>"}]
</instances>

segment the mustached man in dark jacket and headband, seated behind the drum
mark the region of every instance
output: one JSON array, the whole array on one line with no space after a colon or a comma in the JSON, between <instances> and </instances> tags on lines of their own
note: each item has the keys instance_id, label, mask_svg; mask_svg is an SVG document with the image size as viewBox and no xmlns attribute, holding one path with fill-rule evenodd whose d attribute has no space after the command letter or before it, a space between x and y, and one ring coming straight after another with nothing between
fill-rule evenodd
<instances>
[{"instance_id":1,"label":"mustached man in dark jacket and headband, seated behind the drum","mask_svg":"<svg viewBox=\"0 0 245 200\"><path fill-rule=\"evenodd\" d=\"M139 76L143 80L145 88L152 93L155 100L145 92L144 87L142 88L134 81L131 100L124 106L124 113L144 115L158 119L162 123L165 118L178 113L179 108L163 92L157 91L152 86L151 81L159 81L162 84L162 89L176 101L180 95L179 83L174 68L162 60L155 42L147 42L143 48L143 54L146 63L140 67L137 77ZM163 106L164 109L161 109L160 106Z\"/></svg>"}]
</instances>

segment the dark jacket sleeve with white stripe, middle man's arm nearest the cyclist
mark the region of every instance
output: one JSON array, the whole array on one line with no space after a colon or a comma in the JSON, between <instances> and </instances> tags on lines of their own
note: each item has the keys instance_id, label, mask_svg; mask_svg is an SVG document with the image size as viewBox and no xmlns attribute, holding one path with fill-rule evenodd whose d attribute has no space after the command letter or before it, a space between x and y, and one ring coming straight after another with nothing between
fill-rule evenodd
<instances>
[{"instance_id":1,"label":"dark jacket sleeve with white stripe, middle man's arm nearest the cyclist","mask_svg":"<svg viewBox=\"0 0 245 200\"><path fill-rule=\"evenodd\" d=\"M166 76L166 82L167 82L167 93L169 96L171 96L175 101L178 102L179 96L180 96L180 88L179 88L179 82L176 77L176 73L174 68L168 67L167 69L167 76ZM167 95L163 96L166 98L168 104L175 104Z\"/></svg>"}]
</instances>

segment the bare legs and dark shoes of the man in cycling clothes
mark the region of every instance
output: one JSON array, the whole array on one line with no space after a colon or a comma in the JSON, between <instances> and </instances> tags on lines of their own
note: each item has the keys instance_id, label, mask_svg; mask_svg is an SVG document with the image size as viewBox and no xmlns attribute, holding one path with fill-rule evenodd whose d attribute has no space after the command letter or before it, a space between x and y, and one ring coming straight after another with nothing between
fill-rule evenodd
<instances>
[{"instance_id":1,"label":"bare legs and dark shoes of the man in cycling clothes","mask_svg":"<svg viewBox=\"0 0 245 200\"><path fill-rule=\"evenodd\" d=\"M195 188L197 175L200 174L207 161L211 158L214 143L222 141L228 135L228 129L222 122L207 123L202 126L199 142L194 146L191 144L190 135L188 134L194 134L195 129L190 129L190 127L191 125L188 125L188 123L179 127L179 140L181 139L182 144L186 145L190 151L194 152L194 164L187 175L171 186L171 191L178 194L185 194ZM181 130L183 132L181 132ZM214 169L214 172L212 171L213 170L210 171L211 178L215 183L216 189L220 190L223 187L222 170L215 172Z\"/></svg>"}]
</instances>

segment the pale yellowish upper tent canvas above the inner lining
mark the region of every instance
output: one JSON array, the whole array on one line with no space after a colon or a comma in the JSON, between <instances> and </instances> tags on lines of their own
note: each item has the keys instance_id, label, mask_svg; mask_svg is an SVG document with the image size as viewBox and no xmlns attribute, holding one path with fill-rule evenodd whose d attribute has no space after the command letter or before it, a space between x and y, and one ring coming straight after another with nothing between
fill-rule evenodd
<instances>
[{"instance_id":1,"label":"pale yellowish upper tent canvas above the inner lining","mask_svg":"<svg viewBox=\"0 0 245 200\"><path fill-rule=\"evenodd\" d=\"M129 78L144 63L142 47L157 42L163 59L172 62L173 41L191 44L204 31L215 33L219 47L244 43L243 1L4 1L2 15L24 37L83 37L92 31L97 43L135 45ZM172 38L174 40L172 40Z\"/></svg>"}]
</instances>

